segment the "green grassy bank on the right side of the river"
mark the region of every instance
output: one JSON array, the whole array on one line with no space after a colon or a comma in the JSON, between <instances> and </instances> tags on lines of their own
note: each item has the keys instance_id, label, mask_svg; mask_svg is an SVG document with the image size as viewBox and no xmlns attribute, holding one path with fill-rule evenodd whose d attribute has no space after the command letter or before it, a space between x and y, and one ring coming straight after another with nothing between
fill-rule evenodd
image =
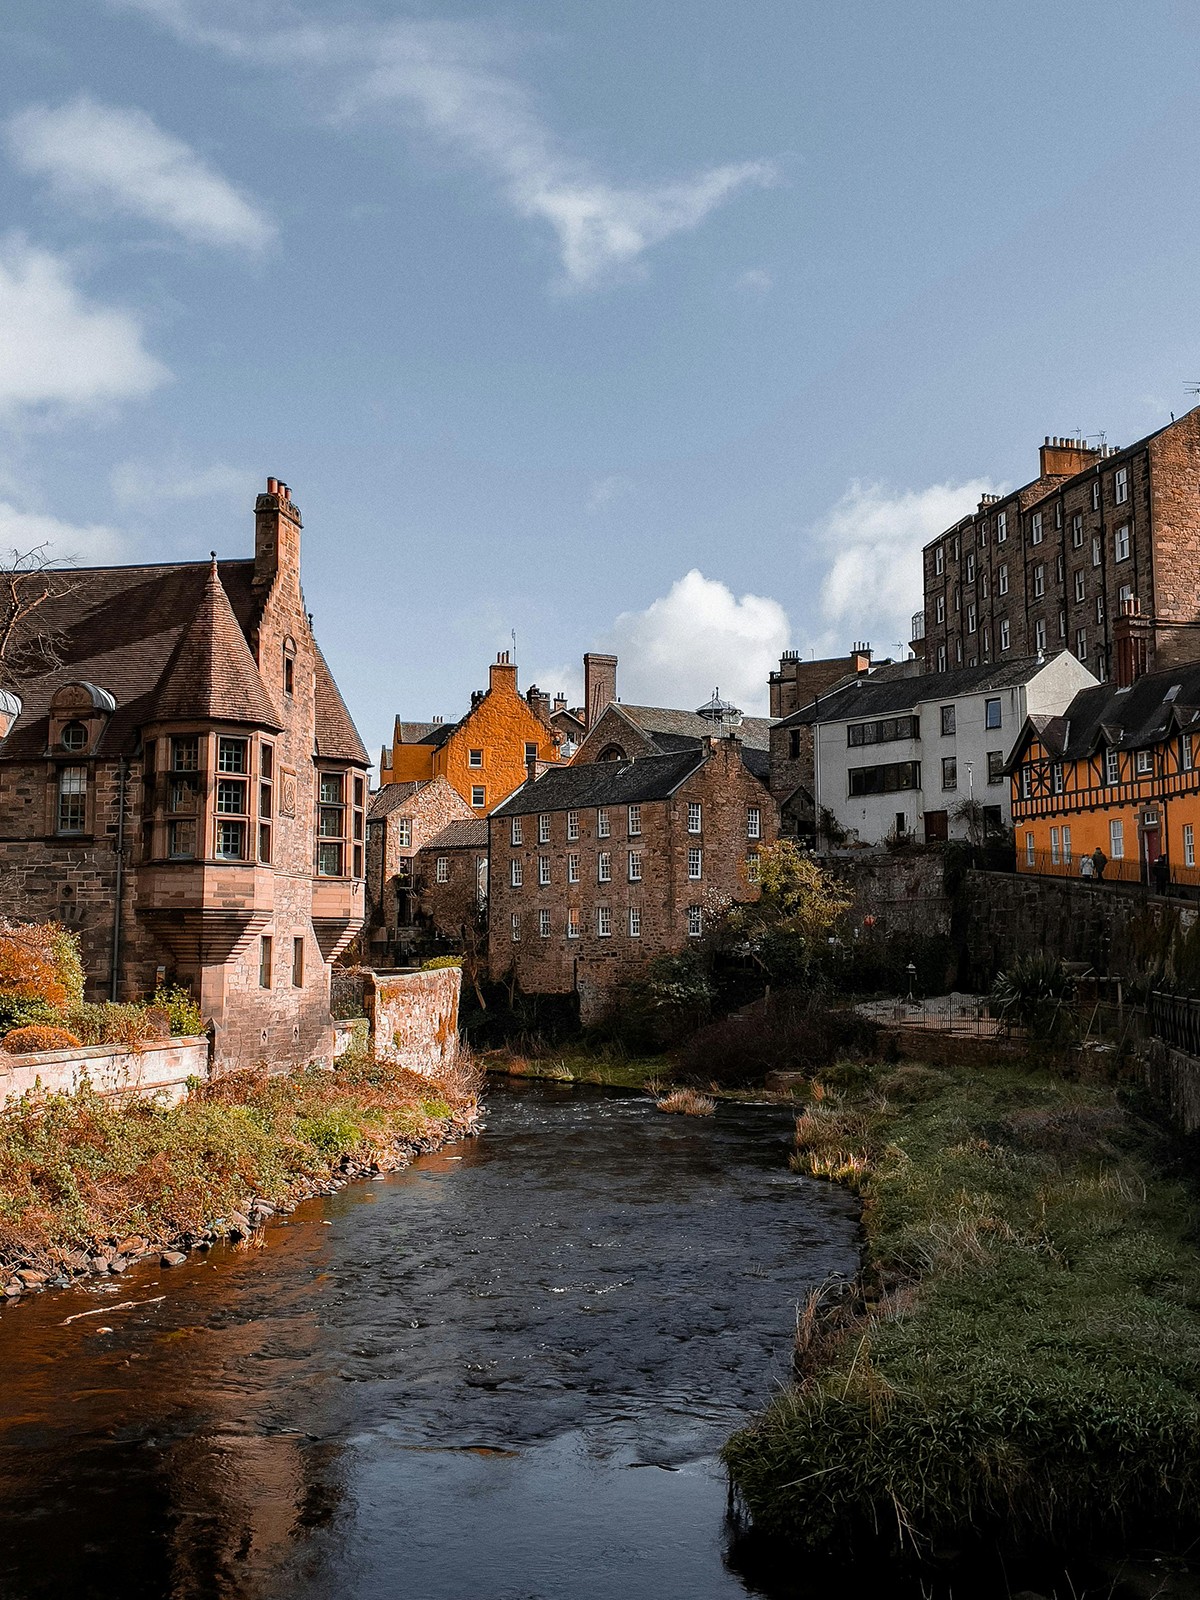
<instances>
[{"instance_id":1,"label":"green grassy bank on the right side of the river","mask_svg":"<svg viewBox=\"0 0 1200 1600\"><path fill-rule=\"evenodd\" d=\"M1032 1064L846 1077L794 1163L862 1197L862 1283L810 1296L794 1386L725 1446L755 1526L819 1552L1195 1523L1197 1216L1158 1134Z\"/></svg>"}]
</instances>

